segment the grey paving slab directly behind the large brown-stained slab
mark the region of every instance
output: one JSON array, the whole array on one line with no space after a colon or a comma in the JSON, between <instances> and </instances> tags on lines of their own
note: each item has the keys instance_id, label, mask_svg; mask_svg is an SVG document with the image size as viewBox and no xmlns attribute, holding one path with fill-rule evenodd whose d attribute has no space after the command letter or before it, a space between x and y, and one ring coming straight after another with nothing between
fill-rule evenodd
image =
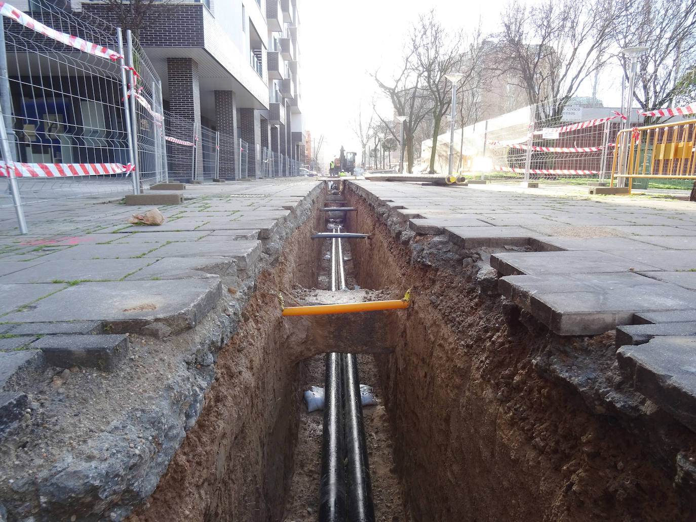
<instances>
[{"instance_id":1,"label":"grey paving slab directly behind the large brown-stained slab","mask_svg":"<svg viewBox=\"0 0 696 522\"><path fill-rule=\"evenodd\" d=\"M235 274L237 265L232 258L163 258L131 274L126 280L207 279Z\"/></svg>"}]
</instances>

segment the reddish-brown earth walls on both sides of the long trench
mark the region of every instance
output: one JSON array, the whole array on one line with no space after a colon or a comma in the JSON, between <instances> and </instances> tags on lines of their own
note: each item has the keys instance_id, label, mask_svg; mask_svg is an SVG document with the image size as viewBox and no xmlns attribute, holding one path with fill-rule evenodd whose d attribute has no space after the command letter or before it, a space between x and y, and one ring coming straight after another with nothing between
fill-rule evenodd
<instances>
[{"instance_id":1,"label":"reddish-brown earth walls on both sides of the long trench","mask_svg":"<svg viewBox=\"0 0 696 522\"><path fill-rule=\"evenodd\" d=\"M496 292L490 251L414 236L368 196L342 191L358 209L347 230L371 235L347 241L347 286L381 291L369 299L412 287L412 306L333 330L280 317L278 292L292 306L326 289L326 240L310 239L326 230L324 191L258 278L203 413L130 521L317 520L321 413L301 394L323 386L322 328L338 351L377 352L359 361L380 400L364 410L378 521L696 519L696 484L674 466L696 437L624 390L613 334L551 333ZM601 374L604 391L562 378L558 361Z\"/></svg>"}]
</instances>

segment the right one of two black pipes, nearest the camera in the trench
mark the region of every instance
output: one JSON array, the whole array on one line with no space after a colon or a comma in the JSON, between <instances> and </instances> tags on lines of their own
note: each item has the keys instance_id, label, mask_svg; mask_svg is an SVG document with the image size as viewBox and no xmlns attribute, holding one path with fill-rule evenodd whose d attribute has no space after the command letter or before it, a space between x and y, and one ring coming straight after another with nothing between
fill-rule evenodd
<instances>
[{"instance_id":1,"label":"right one of two black pipes, nearest the camera in the trench","mask_svg":"<svg viewBox=\"0 0 696 522\"><path fill-rule=\"evenodd\" d=\"M370 466L355 354L342 354L348 522L374 522Z\"/></svg>"}]
</instances>

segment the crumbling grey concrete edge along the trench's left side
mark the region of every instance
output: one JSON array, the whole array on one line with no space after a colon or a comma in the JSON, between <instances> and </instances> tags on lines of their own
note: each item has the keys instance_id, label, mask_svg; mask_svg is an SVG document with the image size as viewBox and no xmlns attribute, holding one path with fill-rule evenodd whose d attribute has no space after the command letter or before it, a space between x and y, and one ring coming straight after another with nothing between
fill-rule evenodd
<instances>
[{"instance_id":1,"label":"crumbling grey concrete edge along the trench's left side","mask_svg":"<svg viewBox=\"0 0 696 522\"><path fill-rule=\"evenodd\" d=\"M317 184L296 206L294 219L283 223L283 226L274 227L273 235L268 242L264 242L259 261L244 271L246 278L234 298L228 292L220 292L215 294L217 298L212 310L207 310L205 314L196 313L196 306L192 305L185 317L180 318L181 324L191 324L190 329L177 332L182 336L182 344L189 347L189 352L182 354L187 371L176 372L169 381L162 382L146 410L119 412L122 413L120 418L114 420L104 432L90 438L90 445L95 451L109 454L108 461L82 465L66 453L63 460L52 465L52 478L47 484L41 484L40 491L35 481L28 480L26 490L17 492L31 496L30 499L22 498L23 503L31 503L46 515L46 519L55 519L55 513L63 512L61 510L65 510L74 498L80 498L81 505L92 510L89 516L97 517L108 510L124 518L134 507L145 503L184 441L186 432L196 424L203 411L205 393L215 377L217 354L237 333L242 310L255 291L256 278L277 262L285 238L313 215L313 206L323 190L324 184ZM276 243L280 245L278 248ZM216 288L221 288L220 283ZM206 294L201 299L212 299L212 294ZM137 326L138 331L143 328L147 331L148 327L157 323L164 324L161 319L140 319L132 322L131 326ZM106 331L113 332L113 324L108 321L104 324ZM44 359L42 351L33 352L36 357ZM177 390L176 393L171 393L173 388ZM22 393L21 390L14 391ZM143 436L145 442L141 452L129 452L127 448L113 451L113 448L121 447L124 429L132 438ZM115 432L119 435L114 435ZM148 436L152 436L152 442L148 442ZM90 499L93 499L91 505ZM6 500L3 499L3 502Z\"/></svg>"}]
</instances>

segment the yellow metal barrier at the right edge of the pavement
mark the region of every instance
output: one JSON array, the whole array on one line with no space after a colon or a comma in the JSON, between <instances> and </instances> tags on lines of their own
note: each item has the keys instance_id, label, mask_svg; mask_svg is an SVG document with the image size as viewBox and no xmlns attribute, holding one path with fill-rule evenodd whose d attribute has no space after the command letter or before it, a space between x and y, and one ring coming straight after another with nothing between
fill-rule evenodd
<instances>
[{"instance_id":1,"label":"yellow metal barrier at the right edge of the pavement","mask_svg":"<svg viewBox=\"0 0 696 522\"><path fill-rule=\"evenodd\" d=\"M617 136L610 187L628 178L696 180L696 122L681 121L624 129Z\"/></svg>"}]
</instances>

